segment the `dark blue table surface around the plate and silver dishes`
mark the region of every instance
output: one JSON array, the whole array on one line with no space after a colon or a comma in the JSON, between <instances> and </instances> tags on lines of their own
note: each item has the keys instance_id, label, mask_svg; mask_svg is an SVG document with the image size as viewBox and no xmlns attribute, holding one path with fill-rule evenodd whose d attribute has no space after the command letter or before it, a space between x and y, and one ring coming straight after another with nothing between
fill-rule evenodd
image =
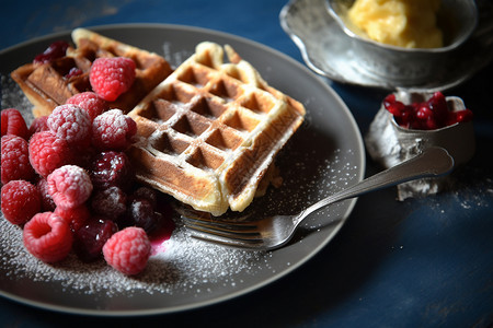
<instances>
[{"instance_id":1,"label":"dark blue table surface around the plate and silver dishes","mask_svg":"<svg viewBox=\"0 0 493 328\"><path fill-rule=\"evenodd\" d=\"M0 49L78 26L167 23L231 33L302 61L279 25L285 4L286 0L3 1ZM489 65L447 91L474 112L478 144L474 157L456 173L454 190L404 202L395 200L395 189L360 197L333 242L287 277L217 305L139 318L59 314L0 297L0 326L491 327L491 77ZM326 83L342 96L365 133L386 93ZM379 169L368 159L366 174Z\"/></svg>"}]
</instances>

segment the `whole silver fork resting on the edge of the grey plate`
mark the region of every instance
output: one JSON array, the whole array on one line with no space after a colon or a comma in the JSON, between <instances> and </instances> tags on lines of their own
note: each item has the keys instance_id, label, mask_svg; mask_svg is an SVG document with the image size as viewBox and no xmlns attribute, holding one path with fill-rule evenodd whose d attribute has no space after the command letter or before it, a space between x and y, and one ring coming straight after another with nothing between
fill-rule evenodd
<instances>
[{"instance_id":1,"label":"whole silver fork resting on the edge of the grey plate","mask_svg":"<svg viewBox=\"0 0 493 328\"><path fill-rule=\"evenodd\" d=\"M429 148L411 160L318 201L296 215L275 215L252 222L227 222L220 219L211 220L198 213L194 215L192 211L182 215L182 219L195 238L252 250L272 250L286 245L301 221L321 208L405 181L443 176L452 168L454 159L446 150Z\"/></svg>"}]
</instances>

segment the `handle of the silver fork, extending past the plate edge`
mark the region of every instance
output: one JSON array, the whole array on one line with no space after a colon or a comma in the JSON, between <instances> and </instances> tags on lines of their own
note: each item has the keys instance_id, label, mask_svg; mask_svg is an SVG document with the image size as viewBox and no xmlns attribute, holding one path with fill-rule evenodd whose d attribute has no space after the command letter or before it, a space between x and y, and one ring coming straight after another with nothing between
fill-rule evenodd
<instances>
[{"instance_id":1,"label":"handle of the silver fork, extending past the plate edge","mask_svg":"<svg viewBox=\"0 0 493 328\"><path fill-rule=\"evenodd\" d=\"M448 152L438 147L424 150L421 154L395 166L377 173L349 188L329 196L307 208L299 219L331 203L358 197L364 194L395 186L410 180L425 177L438 177L449 174L454 168L454 159Z\"/></svg>"}]
</instances>

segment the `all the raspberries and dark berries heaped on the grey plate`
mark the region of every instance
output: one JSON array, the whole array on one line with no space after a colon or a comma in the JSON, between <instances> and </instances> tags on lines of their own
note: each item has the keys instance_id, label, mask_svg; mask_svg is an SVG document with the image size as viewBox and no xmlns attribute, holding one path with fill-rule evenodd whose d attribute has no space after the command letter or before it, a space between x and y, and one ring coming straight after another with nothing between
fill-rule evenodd
<instances>
[{"instance_id":1,"label":"all the raspberries and dark berries heaped on the grey plate","mask_svg":"<svg viewBox=\"0 0 493 328\"><path fill-rule=\"evenodd\" d=\"M56 44L35 62L65 49ZM72 250L83 261L104 253L108 265L137 274L150 257L149 236L170 219L162 214L168 202L135 183L125 151L137 126L105 101L131 85L134 61L102 60L93 71L92 86L104 95L77 94L30 127L18 109L1 112L1 210L23 229L25 248L45 262Z\"/></svg>"}]
</instances>

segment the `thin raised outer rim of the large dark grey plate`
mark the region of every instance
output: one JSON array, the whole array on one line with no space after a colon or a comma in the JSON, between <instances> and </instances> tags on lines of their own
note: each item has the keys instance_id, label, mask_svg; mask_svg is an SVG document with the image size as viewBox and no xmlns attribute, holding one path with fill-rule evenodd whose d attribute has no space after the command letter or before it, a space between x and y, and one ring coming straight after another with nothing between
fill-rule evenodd
<instances>
[{"instance_id":1,"label":"thin raised outer rim of the large dark grey plate","mask_svg":"<svg viewBox=\"0 0 493 328\"><path fill-rule=\"evenodd\" d=\"M103 24L103 25L93 25L93 26L81 26L83 28L88 28L91 31L95 31L98 33L104 33L105 30L117 30L117 28L157 28L157 30L172 30L172 31L186 31L192 33L199 33L199 34L207 34L213 36L218 36L222 38L228 38L234 42L252 45L256 48L261 48L262 50L273 54L274 56L282 58L283 60L287 61L287 63L296 66L298 69L302 70L307 77L310 79L313 79L319 83L321 86L323 86L324 90L326 90L328 93L333 96L334 101L339 103L339 106L344 110L344 116L347 119L347 122L351 124L351 126L354 129L354 132L356 132L356 141L357 141L357 149L353 150L355 153L359 154L359 163L356 165L358 166L358 172L356 173L356 177L354 179L354 183L357 183L363 179L365 172L366 172L366 156L365 156L365 147L364 141L362 137L362 132L359 130L359 127L356 122L356 119L354 118L353 114L351 113L347 105L344 103L342 97L333 90L329 84L320 80L310 69L308 69L306 66L303 66L298 60L289 57L288 55L282 52L280 50L274 49L267 45L264 45L262 43L259 43L253 39L249 39L243 36L234 35L231 33L227 33L223 31L216 31L211 28L206 27L199 27L199 26L191 26L191 25L181 25L181 24L164 24L164 23L118 23L118 24ZM42 36L34 37L32 39L19 43L16 45L10 46L5 49L0 50L0 56L2 56L5 52L10 51L19 51L20 48L26 47L31 44L42 43L47 39L56 38L56 37L67 37L70 36L70 33L73 28L65 30L60 32L55 32ZM343 218L341 218L340 223L336 225L336 227L325 236L323 239L323 243L320 243L317 247L311 249L310 253L308 253L301 260L299 260L297 263L291 265L289 268L283 270L282 272L277 272L275 274L272 274L268 279L264 279L261 282L257 282L255 284L252 284L249 288L243 288L241 290L234 291L232 293L227 293L225 295L215 296L205 301L196 302L193 304L184 304L184 305L175 305L170 307L160 307L160 308L152 308L152 309L85 309L85 308L79 308L74 306L62 306L62 305L56 305L50 303L43 303L37 300L30 300L24 296L15 295L11 292L5 292L3 290L0 290L0 295L4 296L8 300L24 304L34 306L37 308L46 309L46 311L54 311L58 313L66 313L66 314L79 314L79 315L90 315L90 316L99 316L99 317L126 317L126 316L148 316L148 315L157 315L157 314L171 314L171 313L179 313L184 311L191 311L191 309L198 309L206 306L211 306L218 303L222 303L226 301L230 301L233 298L237 298L242 295L246 295L253 291L257 291L279 279L283 277L286 277L287 274L291 273L299 267L303 266L308 260L310 260L313 256L316 256L322 248L324 248L337 233L344 226L345 222L347 221L348 216L353 212L354 207L356 206L357 198L347 200L347 209L343 213Z\"/></svg>"}]
</instances>

